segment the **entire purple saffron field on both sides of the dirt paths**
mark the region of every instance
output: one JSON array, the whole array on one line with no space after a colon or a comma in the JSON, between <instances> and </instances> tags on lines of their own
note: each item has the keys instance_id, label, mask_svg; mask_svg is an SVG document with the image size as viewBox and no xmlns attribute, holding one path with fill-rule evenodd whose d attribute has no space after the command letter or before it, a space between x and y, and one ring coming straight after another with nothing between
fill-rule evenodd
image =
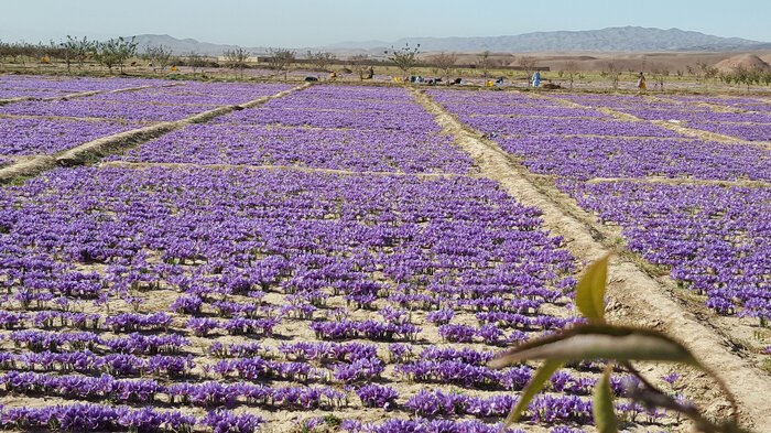
<instances>
[{"instance_id":1,"label":"entire purple saffron field on both sides of the dirt paths","mask_svg":"<svg viewBox=\"0 0 771 433\"><path fill-rule=\"evenodd\" d=\"M17 98L0 106L0 170L290 89L0 76ZM764 329L770 101L426 94L713 314ZM295 88L3 185L0 425L498 432L537 364L487 361L580 321L584 263L541 216L402 87ZM594 431L601 368L569 364L508 431ZM689 429L631 403L634 386L611 380L625 430Z\"/></svg>"}]
</instances>

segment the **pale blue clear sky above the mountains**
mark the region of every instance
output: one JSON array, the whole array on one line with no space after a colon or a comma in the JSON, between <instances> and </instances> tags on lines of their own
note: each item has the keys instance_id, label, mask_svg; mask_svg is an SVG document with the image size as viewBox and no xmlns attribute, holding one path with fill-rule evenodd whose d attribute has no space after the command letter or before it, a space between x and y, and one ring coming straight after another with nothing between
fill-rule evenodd
<instances>
[{"instance_id":1,"label":"pale blue clear sky above the mountains","mask_svg":"<svg viewBox=\"0 0 771 433\"><path fill-rule=\"evenodd\" d=\"M771 42L769 0L0 0L0 40L143 33L245 46L640 25Z\"/></svg>"}]
</instances>

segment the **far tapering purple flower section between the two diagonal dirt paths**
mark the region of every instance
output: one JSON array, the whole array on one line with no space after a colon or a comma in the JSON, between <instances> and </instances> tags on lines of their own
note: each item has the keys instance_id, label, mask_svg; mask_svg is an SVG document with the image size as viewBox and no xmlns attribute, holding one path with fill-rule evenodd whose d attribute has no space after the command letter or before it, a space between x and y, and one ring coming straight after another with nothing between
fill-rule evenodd
<instances>
[{"instance_id":1,"label":"far tapering purple flower section between the two diagonal dirt paths","mask_svg":"<svg viewBox=\"0 0 771 433\"><path fill-rule=\"evenodd\" d=\"M392 100L354 99L348 87L318 87L217 119L191 125L128 152L138 162L298 165L406 173L467 172L473 161L403 89L380 91ZM334 110L318 109L330 105ZM410 121L394 122L400 116ZM374 121L386 117L382 120ZM250 125L269 125L253 127ZM310 125L314 129L296 128ZM400 126L401 125L401 126ZM354 129L337 129L337 128Z\"/></svg>"}]
</instances>

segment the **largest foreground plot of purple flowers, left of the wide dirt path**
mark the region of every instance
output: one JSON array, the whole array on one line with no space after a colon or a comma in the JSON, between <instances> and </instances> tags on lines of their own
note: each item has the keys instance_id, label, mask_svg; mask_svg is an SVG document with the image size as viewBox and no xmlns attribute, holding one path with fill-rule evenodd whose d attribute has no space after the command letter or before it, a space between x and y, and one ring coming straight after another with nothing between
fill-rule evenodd
<instances>
[{"instance_id":1,"label":"largest foreground plot of purple flowers, left of the wide dirt path","mask_svg":"<svg viewBox=\"0 0 771 433\"><path fill-rule=\"evenodd\" d=\"M285 411L313 426L332 411L354 431L415 415L490 431L532 369L485 362L576 320L562 240L491 181L59 169L0 204L10 427L218 431ZM597 371L560 372L529 420L590 423ZM62 405L18 407L42 396Z\"/></svg>"}]
</instances>

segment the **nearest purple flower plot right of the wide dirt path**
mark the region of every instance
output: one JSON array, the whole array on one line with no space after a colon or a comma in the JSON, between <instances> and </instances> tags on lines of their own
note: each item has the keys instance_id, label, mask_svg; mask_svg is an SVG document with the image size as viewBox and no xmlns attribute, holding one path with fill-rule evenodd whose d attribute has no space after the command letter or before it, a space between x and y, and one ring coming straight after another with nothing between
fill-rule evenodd
<instances>
[{"instance_id":1,"label":"nearest purple flower plot right of the wide dirt path","mask_svg":"<svg viewBox=\"0 0 771 433\"><path fill-rule=\"evenodd\" d=\"M771 318L771 188L606 183L563 186L602 220L623 227L628 248L725 314Z\"/></svg>"}]
</instances>

